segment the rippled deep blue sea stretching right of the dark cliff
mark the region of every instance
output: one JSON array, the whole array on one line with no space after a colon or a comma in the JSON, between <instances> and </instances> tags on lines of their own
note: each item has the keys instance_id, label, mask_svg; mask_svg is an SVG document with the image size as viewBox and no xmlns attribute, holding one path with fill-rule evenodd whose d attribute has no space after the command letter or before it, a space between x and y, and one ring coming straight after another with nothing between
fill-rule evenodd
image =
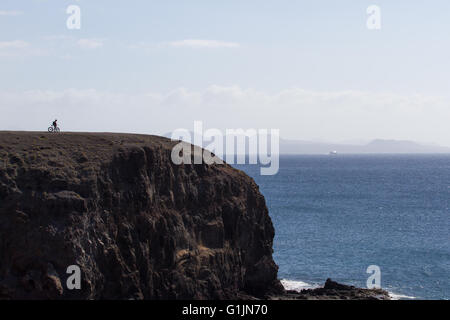
<instances>
[{"instance_id":1,"label":"rippled deep blue sea stretching right of the dark cliff","mask_svg":"<svg viewBox=\"0 0 450 320\"><path fill-rule=\"evenodd\" d=\"M376 265L394 298L450 299L450 155L286 155L274 176L235 167L266 198L285 287L366 287Z\"/></svg>"}]
</instances>

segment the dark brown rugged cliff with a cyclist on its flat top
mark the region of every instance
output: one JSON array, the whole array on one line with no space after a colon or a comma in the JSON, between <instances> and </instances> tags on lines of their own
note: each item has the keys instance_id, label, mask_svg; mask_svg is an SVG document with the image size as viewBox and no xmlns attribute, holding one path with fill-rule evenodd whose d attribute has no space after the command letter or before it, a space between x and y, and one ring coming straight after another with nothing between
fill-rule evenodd
<instances>
[{"instance_id":1,"label":"dark brown rugged cliff with a cyclist on its flat top","mask_svg":"<svg viewBox=\"0 0 450 320\"><path fill-rule=\"evenodd\" d=\"M175 143L0 133L0 298L234 299L282 291L264 197ZM81 269L69 290L67 267ZM248 296L246 296L248 295Z\"/></svg>"}]
</instances>

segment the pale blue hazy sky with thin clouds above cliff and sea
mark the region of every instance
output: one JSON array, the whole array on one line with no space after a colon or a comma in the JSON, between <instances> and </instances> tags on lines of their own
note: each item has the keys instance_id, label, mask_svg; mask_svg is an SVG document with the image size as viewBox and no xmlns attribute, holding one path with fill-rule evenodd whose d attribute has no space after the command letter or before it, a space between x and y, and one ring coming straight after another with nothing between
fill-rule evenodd
<instances>
[{"instance_id":1,"label":"pale blue hazy sky with thin clouds above cliff and sea","mask_svg":"<svg viewBox=\"0 0 450 320\"><path fill-rule=\"evenodd\" d=\"M81 8L81 30L66 28L65 10L71 4ZM381 8L379 31L366 27L366 9L372 4ZM180 125L189 126L192 119L205 117L211 125L235 127L232 117L220 122L214 119L216 112L211 111L211 118L202 112L205 101L215 101L207 100L211 91L222 98L231 94L241 99L234 107L261 103L264 96L262 103L276 109L284 103L277 100L284 99L282 92L295 89L286 107L280 108L281 115L266 112L258 122L250 119L252 109L235 115L240 119L249 116L247 122L238 124L278 126L282 135L285 129L285 136L298 139L385 137L450 145L450 138L442 138L443 134L450 137L450 132L441 123L443 117L450 117L449 13L450 2L444 0L2 0L0 108L5 112L8 109L4 108L15 105L24 111L42 107L42 101L51 105L55 95L58 103L69 105L79 101L80 95L83 99L93 95L91 108L102 109L106 107L103 98L113 99L105 95L121 94L124 103L137 101L144 110L145 106L157 108L151 103L161 107L161 101L172 101L175 92L177 106L173 108L193 108L194 104L199 111L186 113ZM211 90L214 86L225 88L225 93ZM13 96L23 99L24 92L29 94L27 101ZM143 100L141 95L148 94L160 95L160 100ZM299 94L302 97L296 100ZM229 103L224 99L219 105ZM402 108L393 110L399 101ZM416 104L411 113L408 103ZM367 114L361 109L365 104L369 105ZM430 104L431 110L425 110ZM347 126L361 125L353 130L333 127L336 115L328 115L335 106L341 108L337 120ZM49 112L71 115L56 108ZM157 110L135 116L154 117L155 112L164 116L164 108ZM171 111L177 114L176 109ZM293 115L305 122L292 121ZM367 125L367 117L373 117L373 127ZM402 119L408 123L402 124ZM0 125L8 127L6 123ZM94 129L69 123L73 130ZM164 132L171 125L170 120L158 118L154 128ZM299 125L304 129L298 129ZM425 127L415 130L413 126ZM142 124L136 130L152 131L145 128Z\"/></svg>"}]
</instances>

